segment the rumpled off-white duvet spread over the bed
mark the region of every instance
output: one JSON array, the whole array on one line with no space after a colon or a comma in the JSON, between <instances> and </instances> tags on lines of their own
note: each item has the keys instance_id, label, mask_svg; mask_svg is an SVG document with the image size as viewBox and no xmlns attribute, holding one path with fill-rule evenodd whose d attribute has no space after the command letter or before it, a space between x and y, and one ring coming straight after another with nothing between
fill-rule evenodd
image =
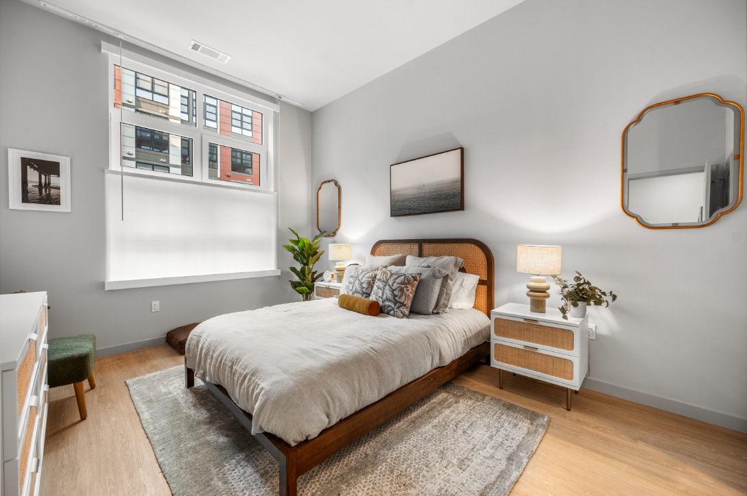
<instances>
[{"instance_id":1,"label":"rumpled off-white duvet spread over the bed","mask_svg":"<svg viewBox=\"0 0 747 496\"><path fill-rule=\"evenodd\" d=\"M326 298L211 318L186 359L252 414L252 433L296 445L489 338L474 309L371 317Z\"/></svg>"}]
</instances>

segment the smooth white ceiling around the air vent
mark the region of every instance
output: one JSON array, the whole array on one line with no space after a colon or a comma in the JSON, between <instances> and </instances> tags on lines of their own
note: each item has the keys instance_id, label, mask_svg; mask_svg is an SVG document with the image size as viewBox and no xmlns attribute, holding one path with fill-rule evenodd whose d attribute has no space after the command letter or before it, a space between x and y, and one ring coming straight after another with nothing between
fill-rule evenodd
<instances>
[{"instance_id":1,"label":"smooth white ceiling around the air vent","mask_svg":"<svg viewBox=\"0 0 747 496\"><path fill-rule=\"evenodd\" d=\"M42 7L49 3L25 0ZM523 0L52 0L316 110ZM50 10L54 12L55 10ZM84 20L83 19L83 20ZM81 22L81 19L78 19ZM190 40L229 54L223 64Z\"/></svg>"}]
</instances>

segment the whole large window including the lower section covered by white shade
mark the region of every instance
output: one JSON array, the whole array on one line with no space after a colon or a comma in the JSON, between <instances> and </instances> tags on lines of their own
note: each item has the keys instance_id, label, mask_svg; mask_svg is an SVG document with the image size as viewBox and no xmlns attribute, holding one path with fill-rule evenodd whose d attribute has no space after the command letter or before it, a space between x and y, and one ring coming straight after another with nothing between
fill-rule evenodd
<instances>
[{"instance_id":1,"label":"whole large window including the lower section covered by white shade","mask_svg":"<svg viewBox=\"0 0 747 496\"><path fill-rule=\"evenodd\" d=\"M277 106L102 49L112 89L105 288L278 275Z\"/></svg>"}]
</instances>

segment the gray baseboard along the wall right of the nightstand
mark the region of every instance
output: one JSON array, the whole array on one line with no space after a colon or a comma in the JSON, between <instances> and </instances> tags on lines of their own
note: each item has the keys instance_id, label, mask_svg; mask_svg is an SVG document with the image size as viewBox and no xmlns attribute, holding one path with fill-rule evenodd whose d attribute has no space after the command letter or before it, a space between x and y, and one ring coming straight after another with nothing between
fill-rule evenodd
<instances>
[{"instance_id":1,"label":"gray baseboard along the wall right of the nightstand","mask_svg":"<svg viewBox=\"0 0 747 496\"><path fill-rule=\"evenodd\" d=\"M702 406L695 406L669 398L649 395L645 392L636 391L635 389L627 389L622 386L605 383L604 381L591 379L589 377L583 381L583 387L591 389L592 391L603 392L605 395L616 396L617 398L622 398L628 401L635 401L639 404L653 406L654 408L666 410L667 412L676 413L689 418L695 418L696 420L708 422L709 424L737 430L740 433L747 433L747 418L735 417L734 415L716 412L714 410L703 408Z\"/></svg>"}]
</instances>

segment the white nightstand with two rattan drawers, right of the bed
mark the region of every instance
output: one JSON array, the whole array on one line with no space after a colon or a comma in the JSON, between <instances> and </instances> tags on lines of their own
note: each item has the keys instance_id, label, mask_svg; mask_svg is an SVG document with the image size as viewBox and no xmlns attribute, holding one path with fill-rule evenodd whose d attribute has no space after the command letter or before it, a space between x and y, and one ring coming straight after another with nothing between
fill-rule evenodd
<instances>
[{"instance_id":1,"label":"white nightstand with two rattan drawers, right of the bed","mask_svg":"<svg viewBox=\"0 0 747 496\"><path fill-rule=\"evenodd\" d=\"M532 313L529 305L505 304L490 313L490 364L503 371L564 386L565 408L571 389L578 392L589 368L589 316L568 317L560 310Z\"/></svg>"}]
</instances>

